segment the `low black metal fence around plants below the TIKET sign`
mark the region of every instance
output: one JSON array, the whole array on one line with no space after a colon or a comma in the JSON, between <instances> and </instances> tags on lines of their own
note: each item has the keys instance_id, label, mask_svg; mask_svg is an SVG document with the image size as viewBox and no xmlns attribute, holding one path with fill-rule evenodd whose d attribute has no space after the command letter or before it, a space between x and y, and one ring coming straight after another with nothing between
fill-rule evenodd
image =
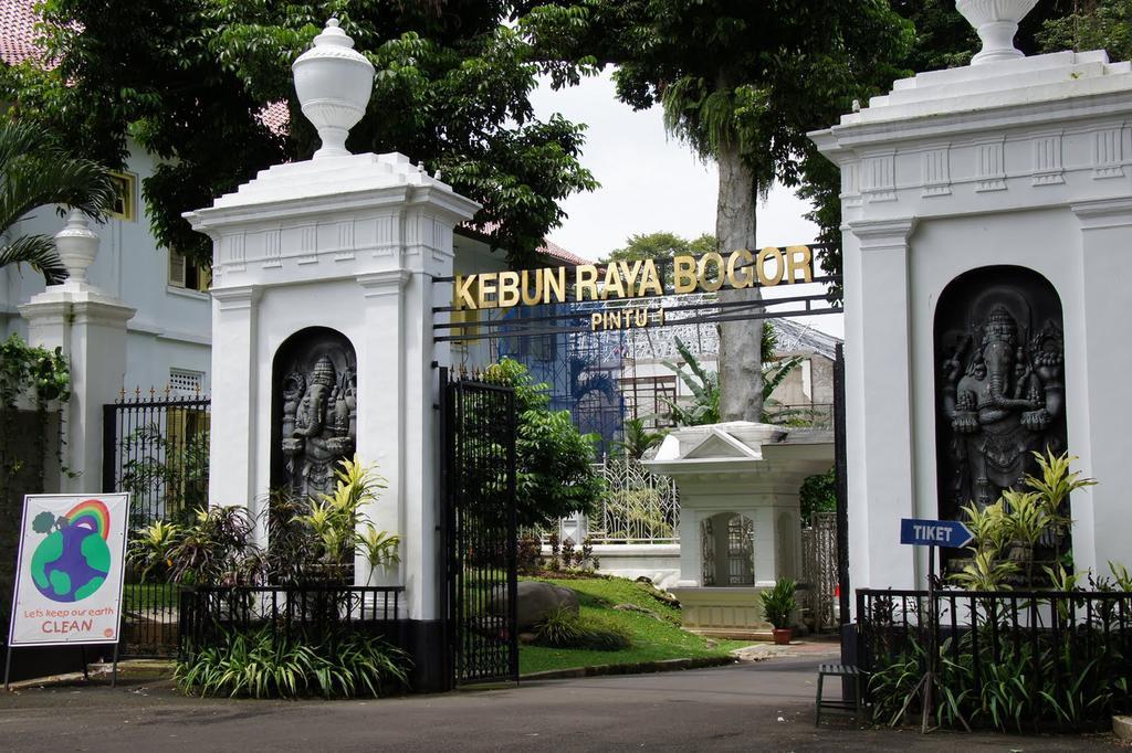
<instances>
[{"instance_id":1,"label":"low black metal fence around plants below the TIKET sign","mask_svg":"<svg viewBox=\"0 0 1132 753\"><path fill-rule=\"evenodd\" d=\"M872 695L915 683L935 646L940 702L972 725L1081 728L1132 708L1132 592L938 590L934 606L926 590L857 591Z\"/></svg>"}]
</instances>

